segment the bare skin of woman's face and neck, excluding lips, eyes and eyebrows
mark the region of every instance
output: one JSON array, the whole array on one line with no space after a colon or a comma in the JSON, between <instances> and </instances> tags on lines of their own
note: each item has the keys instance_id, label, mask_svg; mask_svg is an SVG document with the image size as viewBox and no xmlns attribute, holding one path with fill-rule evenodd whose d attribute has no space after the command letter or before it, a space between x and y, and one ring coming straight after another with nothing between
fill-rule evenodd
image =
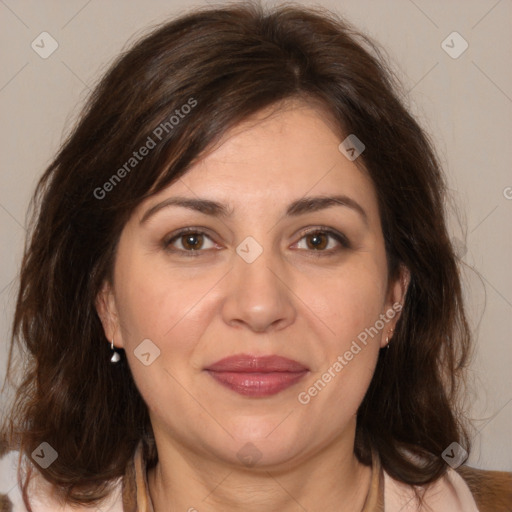
<instances>
[{"instance_id":1,"label":"bare skin of woman's face and neck, excluding lips, eyes and eyebrows","mask_svg":"<svg viewBox=\"0 0 512 512\"><path fill-rule=\"evenodd\" d=\"M113 284L105 282L98 296L105 334L125 349L150 411L159 453L148 472L156 512L325 511L340 503L359 511L368 492L371 468L353 453L356 413L399 315L309 403L298 395L403 302L408 273L388 280L375 188L339 151L342 139L325 112L298 101L280 107L229 131L133 212ZM339 205L284 215L296 199L334 194L357 201L367 223ZM233 214L169 206L140 223L149 208L178 195L226 203ZM200 255L184 255L191 251L186 236L173 241L176 253L166 250L165 241L189 226L206 233L192 241ZM315 249L319 226L344 234L350 247L324 235ZM263 248L252 263L236 252L248 236ZM329 249L337 252L322 253ZM134 355L147 338L160 350L149 366ZM278 354L310 371L276 395L244 397L204 371L240 353ZM237 457L249 442L260 457L251 467Z\"/></svg>"}]
</instances>

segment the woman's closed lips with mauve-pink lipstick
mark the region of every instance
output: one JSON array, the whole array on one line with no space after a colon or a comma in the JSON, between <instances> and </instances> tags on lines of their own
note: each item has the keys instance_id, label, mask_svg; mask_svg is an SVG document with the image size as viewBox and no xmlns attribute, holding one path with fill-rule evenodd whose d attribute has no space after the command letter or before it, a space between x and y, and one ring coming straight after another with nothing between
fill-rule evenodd
<instances>
[{"instance_id":1,"label":"woman's closed lips with mauve-pink lipstick","mask_svg":"<svg viewBox=\"0 0 512 512\"><path fill-rule=\"evenodd\" d=\"M281 356L227 357L205 368L219 384L254 398L275 395L293 386L309 372L303 364Z\"/></svg>"}]
</instances>

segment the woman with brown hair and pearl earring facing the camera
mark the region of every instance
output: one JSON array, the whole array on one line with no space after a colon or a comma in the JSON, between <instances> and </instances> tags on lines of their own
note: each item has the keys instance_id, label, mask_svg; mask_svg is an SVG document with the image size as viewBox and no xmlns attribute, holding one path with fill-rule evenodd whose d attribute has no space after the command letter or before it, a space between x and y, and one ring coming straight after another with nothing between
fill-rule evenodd
<instances>
[{"instance_id":1,"label":"woman with brown hair and pearl earring facing the camera","mask_svg":"<svg viewBox=\"0 0 512 512\"><path fill-rule=\"evenodd\" d=\"M35 196L28 510L510 509L510 474L461 466L470 333L397 90L299 6L194 11L118 59Z\"/></svg>"}]
</instances>

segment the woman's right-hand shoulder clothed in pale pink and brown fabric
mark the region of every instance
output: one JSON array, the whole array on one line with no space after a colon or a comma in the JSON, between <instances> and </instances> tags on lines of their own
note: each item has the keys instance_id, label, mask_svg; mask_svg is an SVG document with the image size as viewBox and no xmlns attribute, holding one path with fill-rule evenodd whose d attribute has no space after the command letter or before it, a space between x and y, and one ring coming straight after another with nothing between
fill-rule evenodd
<instances>
[{"instance_id":1,"label":"woman's right-hand shoulder clothed in pale pink and brown fabric","mask_svg":"<svg viewBox=\"0 0 512 512\"><path fill-rule=\"evenodd\" d=\"M414 489L384 472L386 512L510 512L512 511L512 473L484 471L460 466L423 491L418 508Z\"/></svg>"}]
</instances>

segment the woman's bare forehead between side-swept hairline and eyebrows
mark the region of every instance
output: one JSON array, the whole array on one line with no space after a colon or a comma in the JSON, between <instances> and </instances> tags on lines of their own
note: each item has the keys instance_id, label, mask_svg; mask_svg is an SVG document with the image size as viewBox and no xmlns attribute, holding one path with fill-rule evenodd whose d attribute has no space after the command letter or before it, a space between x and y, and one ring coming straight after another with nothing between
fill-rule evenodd
<instances>
[{"instance_id":1,"label":"woman's bare forehead between side-swept hairline and eyebrows","mask_svg":"<svg viewBox=\"0 0 512 512\"><path fill-rule=\"evenodd\" d=\"M209 198L253 213L309 195L344 194L378 216L366 171L339 150L342 135L326 109L304 102L272 106L228 130L179 180L149 198Z\"/></svg>"}]
</instances>

